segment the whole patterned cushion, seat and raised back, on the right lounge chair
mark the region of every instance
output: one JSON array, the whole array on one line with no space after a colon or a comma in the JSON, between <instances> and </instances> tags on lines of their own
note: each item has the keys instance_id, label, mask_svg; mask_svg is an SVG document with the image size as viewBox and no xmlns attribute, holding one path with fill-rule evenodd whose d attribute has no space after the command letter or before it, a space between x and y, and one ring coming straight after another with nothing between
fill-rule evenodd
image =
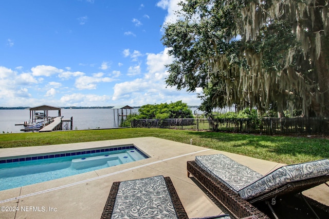
<instances>
[{"instance_id":1,"label":"whole patterned cushion, seat and raised back, on the right lounge chair","mask_svg":"<svg viewBox=\"0 0 329 219\"><path fill-rule=\"evenodd\" d=\"M329 160L287 165L263 176L224 154L196 156L195 163L242 198L257 197L286 183L329 174Z\"/></svg>"}]
</instances>

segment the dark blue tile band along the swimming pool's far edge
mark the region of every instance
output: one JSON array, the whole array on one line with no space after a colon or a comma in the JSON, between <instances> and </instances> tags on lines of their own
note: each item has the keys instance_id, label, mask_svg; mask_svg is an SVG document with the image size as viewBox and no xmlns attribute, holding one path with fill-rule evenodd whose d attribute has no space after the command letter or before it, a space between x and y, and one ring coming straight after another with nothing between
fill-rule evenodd
<instances>
[{"instance_id":1,"label":"dark blue tile band along the swimming pool's far edge","mask_svg":"<svg viewBox=\"0 0 329 219\"><path fill-rule=\"evenodd\" d=\"M118 147L107 147L107 148L93 148L90 150L83 150L83 151L61 151L53 154L45 154L45 155L38 155L34 154L32 156L25 156L25 157L12 157L0 160L0 164L8 164L14 162L23 162L23 161L34 161L34 160L44 160L48 158L56 158L56 157L64 157L64 156L75 156L81 154L90 154L90 153L101 153L101 152L109 152L109 151L118 151L118 150L127 150L127 149L134 149L138 151L143 157L149 158L148 155L143 153L139 150L135 145L127 145L127 146L118 146Z\"/></svg>"}]
</instances>

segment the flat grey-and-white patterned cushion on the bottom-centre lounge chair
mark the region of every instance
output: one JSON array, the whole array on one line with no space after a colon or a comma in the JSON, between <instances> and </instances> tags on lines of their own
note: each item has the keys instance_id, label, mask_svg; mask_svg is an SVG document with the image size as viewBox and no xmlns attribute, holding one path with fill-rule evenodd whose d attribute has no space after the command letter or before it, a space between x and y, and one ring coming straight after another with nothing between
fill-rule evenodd
<instances>
[{"instance_id":1,"label":"flat grey-and-white patterned cushion on the bottom-centre lounge chair","mask_svg":"<svg viewBox=\"0 0 329 219\"><path fill-rule=\"evenodd\" d=\"M177 218L165 178L121 182L112 218Z\"/></svg>"}]
</instances>

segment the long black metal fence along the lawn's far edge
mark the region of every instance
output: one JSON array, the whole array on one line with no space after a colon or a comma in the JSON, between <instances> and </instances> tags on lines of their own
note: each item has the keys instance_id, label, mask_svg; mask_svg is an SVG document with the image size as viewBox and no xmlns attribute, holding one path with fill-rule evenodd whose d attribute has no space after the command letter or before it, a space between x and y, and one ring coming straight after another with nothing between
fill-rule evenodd
<instances>
[{"instance_id":1,"label":"long black metal fence along the lawn's far edge","mask_svg":"<svg viewBox=\"0 0 329 219\"><path fill-rule=\"evenodd\" d=\"M168 118L133 120L133 128L167 128L255 134L329 134L329 118Z\"/></svg>"}]
</instances>

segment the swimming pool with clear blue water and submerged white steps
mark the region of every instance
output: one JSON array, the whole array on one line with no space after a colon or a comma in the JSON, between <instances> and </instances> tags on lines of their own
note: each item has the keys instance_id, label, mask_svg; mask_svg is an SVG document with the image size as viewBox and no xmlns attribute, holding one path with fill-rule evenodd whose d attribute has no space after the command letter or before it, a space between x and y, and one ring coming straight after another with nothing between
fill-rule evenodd
<instances>
[{"instance_id":1,"label":"swimming pool with clear blue water and submerged white steps","mask_svg":"<svg viewBox=\"0 0 329 219\"><path fill-rule=\"evenodd\" d=\"M148 158L135 146L62 151L0 160L0 190L55 180Z\"/></svg>"}]
</instances>

